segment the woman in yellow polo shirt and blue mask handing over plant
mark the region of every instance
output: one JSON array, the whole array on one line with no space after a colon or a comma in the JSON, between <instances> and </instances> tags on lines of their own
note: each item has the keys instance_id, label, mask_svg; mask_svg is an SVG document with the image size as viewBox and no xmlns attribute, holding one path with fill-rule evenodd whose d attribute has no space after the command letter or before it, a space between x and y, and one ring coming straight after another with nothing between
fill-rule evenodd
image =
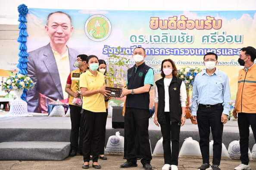
<instances>
[{"instance_id":1,"label":"woman in yellow polo shirt and blue mask handing over plant","mask_svg":"<svg viewBox=\"0 0 256 170\"><path fill-rule=\"evenodd\" d=\"M97 56L87 57L89 69L81 74L80 90L83 95L82 117L83 117L83 169L89 168L90 153L93 158L93 167L100 169L98 158L100 155L100 139L103 133L104 117L106 107L104 96L109 96L110 91L105 90L105 78L97 69L99 60Z\"/></svg>"}]
</instances>

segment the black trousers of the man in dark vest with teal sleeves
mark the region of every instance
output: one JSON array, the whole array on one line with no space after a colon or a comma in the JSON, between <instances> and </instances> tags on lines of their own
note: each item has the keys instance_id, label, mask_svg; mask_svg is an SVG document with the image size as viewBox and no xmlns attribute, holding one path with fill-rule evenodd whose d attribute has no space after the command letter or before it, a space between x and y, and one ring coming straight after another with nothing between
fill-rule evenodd
<instances>
[{"instance_id":1,"label":"black trousers of the man in dark vest with teal sleeves","mask_svg":"<svg viewBox=\"0 0 256 170\"><path fill-rule=\"evenodd\" d=\"M149 110L125 108L125 136L127 139L127 161L137 162L136 138L140 148L142 164L150 164L152 159L149 134Z\"/></svg>"}]
</instances>

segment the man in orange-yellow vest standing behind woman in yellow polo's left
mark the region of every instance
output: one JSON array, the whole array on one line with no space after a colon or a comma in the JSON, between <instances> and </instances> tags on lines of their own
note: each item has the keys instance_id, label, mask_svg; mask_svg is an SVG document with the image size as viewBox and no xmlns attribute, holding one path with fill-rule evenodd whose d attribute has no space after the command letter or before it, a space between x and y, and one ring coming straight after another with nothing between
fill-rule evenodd
<instances>
[{"instance_id":1,"label":"man in orange-yellow vest standing behind woman in yellow polo's left","mask_svg":"<svg viewBox=\"0 0 256 170\"><path fill-rule=\"evenodd\" d=\"M78 136L80 136L79 141L79 151L82 153L82 128L80 126L81 120L81 106L73 103L74 98L78 98L79 94L79 77L82 73L87 70L86 59L87 55L80 54L77 56L75 67L78 69L71 71L69 74L65 91L69 94L69 108L70 108L70 119L71 119L71 133L70 133L70 143L71 143L71 151L69 156L75 156L78 150ZM80 131L79 131L80 127Z\"/></svg>"}]
</instances>

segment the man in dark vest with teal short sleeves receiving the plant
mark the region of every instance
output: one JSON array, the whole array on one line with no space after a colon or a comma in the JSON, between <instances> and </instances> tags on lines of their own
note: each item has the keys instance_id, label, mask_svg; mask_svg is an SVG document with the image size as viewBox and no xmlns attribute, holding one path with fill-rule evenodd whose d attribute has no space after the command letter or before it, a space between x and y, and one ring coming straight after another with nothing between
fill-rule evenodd
<instances>
[{"instance_id":1,"label":"man in dark vest with teal short sleeves receiving the plant","mask_svg":"<svg viewBox=\"0 0 256 170\"><path fill-rule=\"evenodd\" d=\"M138 138L141 163L145 170L152 170L150 161L152 159L148 124L150 87L153 86L153 69L144 63L146 57L145 49L137 47L133 52L135 65L128 69L126 85L122 96L126 97L125 105L125 137L127 138L127 161L120 168L137 167L137 149L135 136Z\"/></svg>"}]
</instances>

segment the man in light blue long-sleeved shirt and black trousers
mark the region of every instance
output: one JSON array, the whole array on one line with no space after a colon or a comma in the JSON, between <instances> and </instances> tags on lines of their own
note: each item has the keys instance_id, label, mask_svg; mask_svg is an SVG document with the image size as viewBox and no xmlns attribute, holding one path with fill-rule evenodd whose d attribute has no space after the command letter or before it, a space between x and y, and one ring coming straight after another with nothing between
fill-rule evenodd
<instances>
[{"instance_id":1,"label":"man in light blue long-sleeved shirt and black trousers","mask_svg":"<svg viewBox=\"0 0 256 170\"><path fill-rule=\"evenodd\" d=\"M204 57L206 70L197 74L193 84L192 118L198 124L200 150L203 164L198 169L206 170L209 164L209 135L212 130L213 160L212 170L220 170L222 155L223 124L228 121L230 89L228 76L216 69L218 56L207 53ZM211 130L210 130L211 129Z\"/></svg>"}]
</instances>

